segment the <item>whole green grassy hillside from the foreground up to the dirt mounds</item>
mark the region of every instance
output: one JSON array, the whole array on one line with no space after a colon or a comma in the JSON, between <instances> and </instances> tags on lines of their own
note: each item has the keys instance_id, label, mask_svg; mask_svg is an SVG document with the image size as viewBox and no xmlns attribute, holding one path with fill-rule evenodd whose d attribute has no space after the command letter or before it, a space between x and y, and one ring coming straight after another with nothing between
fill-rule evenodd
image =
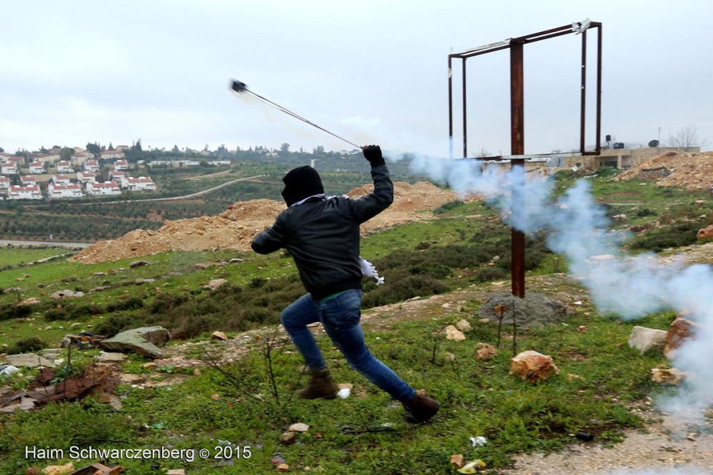
<instances>
[{"instance_id":1,"label":"whole green grassy hillside from the foreground up to the dirt mounds","mask_svg":"<svg viewBox=\"0 0 713 475\"><path fill-rule=\"evenodd\" d=\"M572 179L563 174L558 183ZM627 215L613 223L615 228L641 227L627 242L636 252L662 247L671 237L677 237L676 245L693 244L694 236L677 226L701 226L713 215L704 196L616 183L609 176L593 184L610 215ZM696 205L697 199L707 201ZM497 469L519 451L579 443L571 434L580 431L614 443L624 429L640 427L650 417L646 398L661 391L650 382L650 369L666 364L660 354L630 349L631 329L665 329L674 314L661 312L637 322L599 315L585 290L563 273L563 259L545 249L544 238L528 242L528 292L563 302L570 314L558 324L517 329L481 322L478 314L488 295L509 285L509 228L488 205L451 203L429 220L364 238L362 255L387 282L365 285L369 347L406 381L443 403L433 422L419 426L406 424L399 404L349 369L321 332L317 339L329 367L337 382L353 384L352 395L334 401L294 397L306 376L299 354L276 324L282 307L303 290L286 255L170 252L147 256L149 264L136 267L131 266L135 260L26 265L36 257L14 258L0 272L0 287L6 290L0 295L3 352L56 347L68 332L112 334L138 325L165 325L180 339L165 349L176 356L168 363L146 367L149 359L133 355L120 367L123 382L115 391L123 407L118 411L86 398L0 414L0 474L58 461L26 459L25 446L63 449L63 461L72 446L185 450L183 460L121 459L130 474L180 467L191 474L267 474L275 472L273 459L284 459L291 473L451 474L453 454ZM0 250L0 256L5 252L10 250ZM240 260L229 262L233 257ZM225 264L200 265L208 262ZM229 284L202 287L217 278ZM85 295L63 301L49 297L64 289ZM436 297L428 300L430 295ZM30 297L40 303L16 305ZM445 327L459 320L473 327L466 341L446 340ZM578 331L582 326L586 332ZM210 340L214 330L233 339ZM478 342L499 342L498 355L475 359ZM538 384L508 374L513 352L524 349L550 354L560 374ZM73 351L64 377L93 371L97 354L96 349ZM232 362L216 362L228 356ZM198 372L182 367L191 359L208 364ZM36 374L15 374L0 387L25 388ZM132 377L145 382L132 384ZM297 434L294 444L281 443L281 434L295 422L308 424L309 431ZM473 447L469 439L474 436L488 443ZM200 449L209 459L200 459ZM191 450L195 459L185 460Z\"/></svg>"}]
</instances>

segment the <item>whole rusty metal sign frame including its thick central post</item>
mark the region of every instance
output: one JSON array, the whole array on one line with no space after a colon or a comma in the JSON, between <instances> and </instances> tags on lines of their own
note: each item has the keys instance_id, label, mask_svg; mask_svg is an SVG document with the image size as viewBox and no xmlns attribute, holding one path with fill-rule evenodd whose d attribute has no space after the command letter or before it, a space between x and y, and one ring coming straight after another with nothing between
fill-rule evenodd
<instances>
[{"instance_id":1,"label":"whole rusty metal sign frame including its thick central post","mask_svg":"<svg viewBox=\"0 0 713 475\"><path fill-rule=\"evenodd\" d=\"M597 29L597 91L596 91L596 145L595 150L585 150L585 106L587 86L587 30ZM601 150L601 117L602 117L602 24L597 21L585 20L571 25L558 26L557 28L539 31L518 38L511 38L498 43L486 44L461 53L448 55L448 138L451 143L451 157L453 156L453 59L463 61L463 158L468 158L468 133L466 129L466 60L494 51L510 49L510 98L511 98L511 155L498 155L493 157L478 157L479 160L510 160L513 171L513 197L512 212L524 213L525 204L525 159L538 155L525 155L525 97L523 80L523 46L535 41L556 38L566 34L581 34L582 36L582 83L580 105L580 154L599 155ZM540 155L543 156L543 155ZM546 154L545 154L546 156ZM515 183L514 178L518 180ZM511 229L511 257L512 257L512 292L513 295L525 297L525 233L515 228Z\"/></svg>"}]
</instances>

